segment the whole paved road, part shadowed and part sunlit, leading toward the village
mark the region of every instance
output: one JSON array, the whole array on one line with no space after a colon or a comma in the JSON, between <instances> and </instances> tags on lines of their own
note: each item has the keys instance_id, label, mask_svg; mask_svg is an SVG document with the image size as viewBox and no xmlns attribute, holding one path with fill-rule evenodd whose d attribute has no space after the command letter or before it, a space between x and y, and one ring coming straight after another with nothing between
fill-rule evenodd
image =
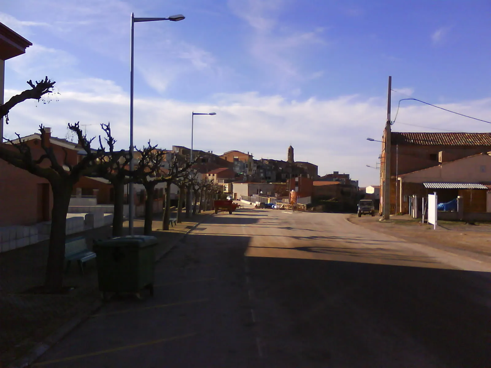
<instances>
[{"instance_id":1,"label":"whole paved road, part shadowed and part sunlit, leading toward the village","mask_svg":"<svg viewBox=\"0 0 491 368\"><path fill-rule=\"evenodd\" d=\"M342 214L220 213L36 365L489 367L490 271Z\"/></svg>"}]
</instances>

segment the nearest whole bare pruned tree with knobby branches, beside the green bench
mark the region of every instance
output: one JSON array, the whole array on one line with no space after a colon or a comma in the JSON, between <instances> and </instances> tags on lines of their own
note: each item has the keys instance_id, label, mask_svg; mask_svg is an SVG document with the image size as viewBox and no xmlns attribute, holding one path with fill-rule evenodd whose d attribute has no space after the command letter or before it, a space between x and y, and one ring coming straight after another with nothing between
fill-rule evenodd
<instances>
[{"instance_id":1,"label":"nearest whole bare pruned tree with knobby branches, beside the green bench","mask_svg":"<svg viewBox=\"0 0 491 368\"><path fill-rule=\"evenodd\" d=\"M66 151L63 162L58 162L43 126L39 127L41 148L44 152L40 157L33 157L30 147L26 141L21 139L19 134L17 134L18 139L15 141L7 139L10 147L8 144L0 145L1 159L33 175L45 178L51 184L53 210L51 212L50 243L45 279L45 289L48 292L60 292L63 286L66 215L73 185L82 176L90 174L96 166L96 161L104 155L104 151L90 148L93 139L86 139L78 122L74 125L68 124L68 127L77 134L79 144L85 151L85 156L73 166L67 161L68 153Z\"/></svg>"}]
</instances>

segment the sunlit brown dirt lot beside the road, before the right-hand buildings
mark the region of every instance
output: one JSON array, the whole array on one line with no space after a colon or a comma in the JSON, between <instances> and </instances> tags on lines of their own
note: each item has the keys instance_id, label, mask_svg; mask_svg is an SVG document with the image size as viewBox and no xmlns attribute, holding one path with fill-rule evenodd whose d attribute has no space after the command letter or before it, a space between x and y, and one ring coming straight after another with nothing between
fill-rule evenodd
<instances>
[{"instance_id":1,"label":"sunlit brown dirt lot beside the road, before the right-hand buildings","mask_svg":"<svg viewBox=\"0 0 491 368\"><path fill-rule=\"evenodd\" d=\"M421 219L413 219L409 215L392 215L388 221L379 221L380 219L379 216L357 217L353 214L348 221L407 241L431 245L491 263L491 224L489 223L470 225L440 221L436 230L433 230L433 225L422 224Z\"/></svg>"}]
</instances>

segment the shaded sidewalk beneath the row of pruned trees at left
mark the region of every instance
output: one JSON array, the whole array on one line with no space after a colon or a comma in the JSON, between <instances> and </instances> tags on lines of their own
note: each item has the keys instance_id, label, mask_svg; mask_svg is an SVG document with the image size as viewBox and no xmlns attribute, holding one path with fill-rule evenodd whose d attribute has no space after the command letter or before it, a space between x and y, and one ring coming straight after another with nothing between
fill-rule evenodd
<instances>
[{"instance_id":1,"label":"shaded sidewalk beneath the row of pruned trees at left","mask_svg":"<svg viewBox=\"0 0 491 368\"><path fill-rule=\"evenodd\" d=\"M153 236L157 237L157 259L174 246L194 226L213 213L196 214L182 223L162 228L162 214L154 216ZM184 214L183 214L184 215ZM184 217L184 216L183 216ZM143 219L135 220L135 234L143 234ZM128 222L124 224L128 232ZM84 236L92 247L94 239L111 237L111 227L92 229L67 236ZM48 240L0 253L0 367L32 353L46 339L68 321L96 308L100 303L97 287L96 262L85 263L85 275L80 274L77 264L72 265L64 278L64 285L75 287L65 295L32 294L26 291L42 285L48 257Z\"/></svg>"}]
</instances>

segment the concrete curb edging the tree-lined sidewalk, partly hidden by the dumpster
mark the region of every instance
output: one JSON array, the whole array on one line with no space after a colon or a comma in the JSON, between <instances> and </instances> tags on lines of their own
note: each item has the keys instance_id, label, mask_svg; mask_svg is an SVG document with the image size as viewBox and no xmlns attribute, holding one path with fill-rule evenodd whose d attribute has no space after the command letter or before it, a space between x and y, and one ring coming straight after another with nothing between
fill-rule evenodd
<instances>
[{"instance_id":1,"label":"concrete curb edging the tree-lined sidewalk, partly hidden by the dumpster","mask_svg":"<svg viewBox=\"0 0 491 368\"><path fill-rule=\"evenodd\" d=\"M163 250L161 254L156 256L155 263L159 262L164 256L169 253L176 244L184 239L192 230L196 229L198 225L200 225L205 219L212 216L213 213L208 213L201 221L196 222L194 226L192 226L186 233L184 233L181 237L176 238L173 242L169 244L167 248ZM66 322L63 326L58 328L58 330L52 335L48 336L44 342L39 342L26 354L26 356L19 358L12 362L7 368L25 368L34 363L37 359L39 359L46 351L48 351L53 345L62 340L66 335L68 335L71 331L77 328L80 324L86 321L90 315L96 313L99 309L102 308L104 303L101 300L95 301L88 311L83 311L76 315L74 318Z\"/></svg>"}]
</instances>

